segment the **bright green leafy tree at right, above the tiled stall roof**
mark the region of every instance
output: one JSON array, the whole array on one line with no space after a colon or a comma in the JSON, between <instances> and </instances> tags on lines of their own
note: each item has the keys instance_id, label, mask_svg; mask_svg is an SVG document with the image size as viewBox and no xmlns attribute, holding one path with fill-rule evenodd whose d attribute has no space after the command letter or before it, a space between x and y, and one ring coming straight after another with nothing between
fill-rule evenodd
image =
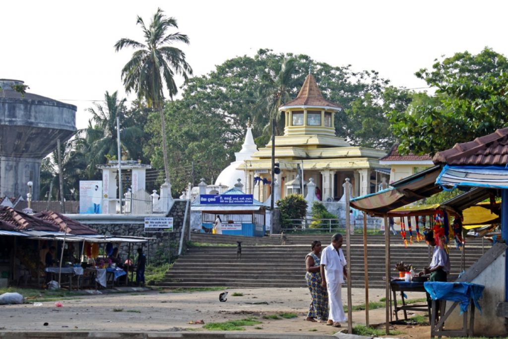
<instances>
[{"instance_id":1,"label":"bright green leafy tree at right, above the tiled stall roof","mask_svg":"<svg viewBox=\"0 0 508 339\"><path fill-rule=\"evenodd\" d=\"M435 96L404 112L392 111L392 131L401 153L435 153L455 143L493 133L508 125L508 61L485 48L477 55L456 53L416 73Z\"/></svg>"}]
</instances>

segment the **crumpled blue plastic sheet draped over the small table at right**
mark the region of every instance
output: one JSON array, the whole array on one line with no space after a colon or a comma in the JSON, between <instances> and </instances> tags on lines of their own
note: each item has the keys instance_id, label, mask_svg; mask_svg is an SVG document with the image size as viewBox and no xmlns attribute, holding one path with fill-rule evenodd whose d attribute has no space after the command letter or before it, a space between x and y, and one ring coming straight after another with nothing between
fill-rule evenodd
<instances>
[{"instance_id":1,"label":"crumpled blue plastic sheet draped over the small table at right","mask_svg":"<svg viewBox=\"0 0 508 339\"><path fill-rule=\"evenodd\" d=\"M460 303L460 314L467 312L469 300L482 313L478 300L482 297L485 286L471 283L426 282L423 284L432 300L450 300Z\"/></svg>"}]
</instances>

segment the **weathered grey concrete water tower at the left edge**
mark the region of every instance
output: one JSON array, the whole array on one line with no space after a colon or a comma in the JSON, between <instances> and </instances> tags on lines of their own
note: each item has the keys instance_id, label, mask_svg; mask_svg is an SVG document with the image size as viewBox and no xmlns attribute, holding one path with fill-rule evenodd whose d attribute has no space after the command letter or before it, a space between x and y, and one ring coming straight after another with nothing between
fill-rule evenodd
<instances>
[{"instance_id":1,"label":"weathered grey concrete water tower at the left edge","mask_svg":"<svg viewBox=\"0 0 508 339\"><path fill-rule=\"evenodd\" d=\"M39 200L41 160L76 132L76 106L13 90L23 81L0 79L0 196Z\"/></svg>"}]
</instances>

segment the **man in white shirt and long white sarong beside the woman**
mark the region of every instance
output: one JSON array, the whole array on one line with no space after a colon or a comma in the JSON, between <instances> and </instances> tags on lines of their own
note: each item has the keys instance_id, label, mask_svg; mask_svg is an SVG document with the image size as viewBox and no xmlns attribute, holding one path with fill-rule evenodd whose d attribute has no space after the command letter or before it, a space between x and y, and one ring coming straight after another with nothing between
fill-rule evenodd
<instances>
[{"instance_id":1,"label":"man in white shirt and long white sarong beside the woman","mask_svg":"<svg viewBox=\"0 0 508 339\"><path fill-rule=\"evenodd\" d=\"M342 253L342 235L336 233L332 236L332 243L321 252L321 286L328 290L328 305L330 312L327 325L340 327L346 321L342 306L341 287L344 276L347 278L346 259Z\"/></svg>"}]
</instances>

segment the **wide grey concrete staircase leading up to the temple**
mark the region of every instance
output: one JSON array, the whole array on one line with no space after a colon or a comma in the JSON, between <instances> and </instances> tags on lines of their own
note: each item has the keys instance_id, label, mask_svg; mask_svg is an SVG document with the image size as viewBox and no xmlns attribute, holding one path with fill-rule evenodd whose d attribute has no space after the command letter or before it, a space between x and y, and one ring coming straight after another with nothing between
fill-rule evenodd
<instances>
[{"instance_id":1,"label":"wide grey concrete staircase leading up to the temple","mask_svg":"<svg viewBox=\"0 0 508 339\"><path fill-rule=\"evenodd\" d=\"M288 241L304 242L305 245L270 245L273 237L251 238L226 235L205 234L202 236L192 235L191 239L196 242L228 243L227 241L242 242L242 257L236 260L236 246L193 246L174 263L166 274L164 282L158 284L161 287L305 287L305 262L304 258L310 252L310 242L313 239L322 240L328 244L330 235L305 235L288 236ZM245 239L246 238L246 239ZM323 238L323 239L322 239ZM199 240L198 240L199 239ZM207 241L202 241L206 239ZM280 237L275 237L279 240ZM312 239L309 241L309 239ZM397 239L397 240L396 240ZM266 241L267 243L263 243ZM422 270L429 263L429 250L424 242L416 243L405 248L400 242L400 236L391 238L391 274L398 275L395 263L404 261L412 264L417 271ZM258 245L249 245L255 242ZM247 243L246 245L244 245ZM369 236L368 238L368 275L369 286L383 288L385 276L385 246L384 237ZM480 242L481 244L481 242ZM475 244L476 245L476 244ZM490 246L489 246L490 247ZM344 255L345 245L343 246ZM353 287L365 287L364 283L364 260L363 260L363 237L352 237L352 277ZM468 244L466 249L466 267L472 265L482 256L481 246ZM461 251L450 250L452 265L452 278L460 271Z\"/></svg>"}]
</instances>

